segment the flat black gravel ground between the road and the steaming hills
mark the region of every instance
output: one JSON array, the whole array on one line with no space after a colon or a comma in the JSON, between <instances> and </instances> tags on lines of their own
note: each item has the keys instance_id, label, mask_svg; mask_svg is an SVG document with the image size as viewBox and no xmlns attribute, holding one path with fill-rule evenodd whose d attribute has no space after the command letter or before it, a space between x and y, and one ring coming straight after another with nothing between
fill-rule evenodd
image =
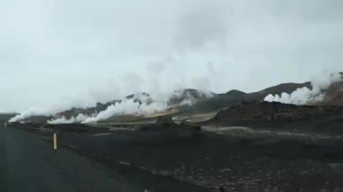
<instances>
[{"instance_id":1,"label":"flat black gravel ground between the road and the steaming hills","mask_svg":"<svg viewBox=\"0 0 343 192\"><path fill-rule=\"evenodd\" d=\"M343 191L339 132L312 132L311 127L287 131L284 123L283 129L270 129L271 124L264 129L207 125L201 132L80 124L16 126L47 140L57 132L60 144L108 166L209 190Z\"/></svg>"}]
</instances>

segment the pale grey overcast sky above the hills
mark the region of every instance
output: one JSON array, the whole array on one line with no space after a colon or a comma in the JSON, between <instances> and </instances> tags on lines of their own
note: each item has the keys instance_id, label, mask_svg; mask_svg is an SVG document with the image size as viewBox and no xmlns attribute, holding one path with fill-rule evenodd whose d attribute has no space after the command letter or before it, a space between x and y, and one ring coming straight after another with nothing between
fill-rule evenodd
<instances>
[{"instance_id":1,"label":"pale grey overcast sky above the hills","mask_svg":"<svg viewBox=\"0 0 343 192\"><path fill-rule=\"evenodd\" d=\"M0 111L343 70L341 0L1 0Z\"/></svg>"}]
</instances>

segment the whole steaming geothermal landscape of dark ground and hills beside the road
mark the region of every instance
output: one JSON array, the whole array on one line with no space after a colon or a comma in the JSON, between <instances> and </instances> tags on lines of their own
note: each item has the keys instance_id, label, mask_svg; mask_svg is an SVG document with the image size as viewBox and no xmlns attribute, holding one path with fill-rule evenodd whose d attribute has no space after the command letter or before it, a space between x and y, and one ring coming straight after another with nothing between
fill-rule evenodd
<instances>
[{"instance_id":1,"label":"whole steaming geothermal landscape of dark ground and hills beside the road","mask_svg":"<svg viewBox=\"0 0 343 192\"><path fill-rule=\"evenodd\" d=\"M147 191L343 191L341 76L249 94L140 93L52 115L13 114L8 127L48 143L57 133L61 148Z\"/></svg>"}]
</instances>

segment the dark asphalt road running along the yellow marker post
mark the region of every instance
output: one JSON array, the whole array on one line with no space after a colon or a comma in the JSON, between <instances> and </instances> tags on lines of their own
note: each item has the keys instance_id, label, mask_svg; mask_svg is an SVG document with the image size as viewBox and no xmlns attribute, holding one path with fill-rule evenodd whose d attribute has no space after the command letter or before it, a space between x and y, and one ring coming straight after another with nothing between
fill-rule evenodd
<instances>
[{"instance_id":1,"label":"dark asphalt road running along the yellow marker post","mask_svg":"<svg viewBox=\"0 0 343 192\"><path fill-rule=\"evenodd\" d=\"M0 124L1 192L209 191L189 182L93 158L88 152L68 151L62 147L63 141L59 141L62 143L54 151L51 138L21 130L26 127L24 124L21 127ZM91 157L90 160L84 155Z\"/></svg>"}]
</instances>

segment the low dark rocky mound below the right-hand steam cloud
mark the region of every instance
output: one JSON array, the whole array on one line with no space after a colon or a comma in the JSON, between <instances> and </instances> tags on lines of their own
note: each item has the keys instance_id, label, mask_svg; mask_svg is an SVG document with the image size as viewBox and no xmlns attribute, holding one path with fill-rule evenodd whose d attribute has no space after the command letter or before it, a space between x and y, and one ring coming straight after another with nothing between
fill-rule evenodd
<instances>
[{"instance_id":1,"label":"low dark rocky mound below the right-hand steam cloud","mask_svg":"<svg viewBox=\"0 0 343 192\"><path fill-rule=\"evenodd\" d=\"M205 124L343 133L343 107L246 102L221 110Z\"/></svg>"}]
</instances>

